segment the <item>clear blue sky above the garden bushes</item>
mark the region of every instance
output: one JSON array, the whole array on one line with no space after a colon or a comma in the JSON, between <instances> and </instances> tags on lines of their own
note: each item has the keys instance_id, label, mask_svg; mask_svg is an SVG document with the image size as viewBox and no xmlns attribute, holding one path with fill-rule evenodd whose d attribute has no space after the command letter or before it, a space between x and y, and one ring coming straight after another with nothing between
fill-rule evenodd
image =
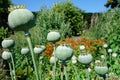
<instances>
[{"instance_id":1,"label":"clear blue sky above the garden bushes","mask_svg":"<svg viewBox=\"0 0 120 80\"><path fill-rule=\"evenodd\" d=\"M52 6L55 2L60 2L65 0L12 0L13 4L25 4L26 8L31 11L39 11L42 6L47 6L48 8ZM104 4L107 0L71 0L72 3L84 10L85 12L104 12L107 10Z\"/></svg>"}]
</instances>

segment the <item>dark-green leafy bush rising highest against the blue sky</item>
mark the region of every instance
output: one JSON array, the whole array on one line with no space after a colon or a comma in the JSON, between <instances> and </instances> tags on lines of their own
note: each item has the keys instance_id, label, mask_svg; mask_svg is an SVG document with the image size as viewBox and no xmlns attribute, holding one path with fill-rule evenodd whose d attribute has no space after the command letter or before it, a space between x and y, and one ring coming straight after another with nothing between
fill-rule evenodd
<instances>
[{"instance_id":1,"label":"dark-green leafy bush rising highest against the blue sky","mask_svg":"<svg viewBox=\"0 0 120 80\"><path fill-rule=\"evenodd\" d=\"M65 22L70 23L73 35L78 35L82 31L83 11L74 6L73 3L70 1L58 2L51 9L65 15Z\"/></svg>"}]
</instances>

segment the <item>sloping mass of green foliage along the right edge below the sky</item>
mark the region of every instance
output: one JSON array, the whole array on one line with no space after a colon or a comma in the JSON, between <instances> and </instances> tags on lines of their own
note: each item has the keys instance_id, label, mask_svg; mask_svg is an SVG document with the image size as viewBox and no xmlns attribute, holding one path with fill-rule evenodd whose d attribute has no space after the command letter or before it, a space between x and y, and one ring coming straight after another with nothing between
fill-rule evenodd
<instances>
[{"instance_id":1,"label":"sloping mass of green foliage along the right edge below the sky","mask_svg":"<svg viewBox=\"0 0 120 80\"><path fill-rule=\"evenodd\" d=\"M119 8L111 9L108 12L101 13L95 24L86 32L89 38L105 38L114 52L120 52L120 10Z\"/></svg>"}]
</instances>

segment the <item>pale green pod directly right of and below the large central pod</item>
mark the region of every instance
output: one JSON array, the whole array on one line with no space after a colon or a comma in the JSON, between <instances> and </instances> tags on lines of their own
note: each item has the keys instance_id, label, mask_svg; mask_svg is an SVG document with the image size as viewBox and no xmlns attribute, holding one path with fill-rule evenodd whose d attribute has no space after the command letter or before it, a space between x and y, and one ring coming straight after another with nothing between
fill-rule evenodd
<instances>
[{"instance_id":1,"label":"pale green pod directly right of and below the large central pod","mask_svg":"<svg viewBox=\"0 0 120 80\"><path fill-rule=\"evenodd\" d=\"M81 64L89 64L91 61L92 61L93 57L91 54L80 54L78 56L78 61L81 63Z\"/></svg>"}]
</instances>

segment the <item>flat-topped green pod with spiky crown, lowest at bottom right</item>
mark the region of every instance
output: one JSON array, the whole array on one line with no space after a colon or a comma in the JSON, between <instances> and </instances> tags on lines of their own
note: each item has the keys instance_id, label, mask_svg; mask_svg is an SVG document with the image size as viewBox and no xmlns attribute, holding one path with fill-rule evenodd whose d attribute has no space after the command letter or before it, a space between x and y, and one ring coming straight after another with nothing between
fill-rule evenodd
<instances>
[{"instance_id":1,"label":"flat-topped green pod with spiky crown, lowest at bottom right","mask_svg":"<svg viewBox=\"0 0 120 80\"><path fill-rule=\"evenodd\" d=\"M95 66L95 72L99 75L105 75L108 72L107 66Z\"/></svg>"}]
</instances>

